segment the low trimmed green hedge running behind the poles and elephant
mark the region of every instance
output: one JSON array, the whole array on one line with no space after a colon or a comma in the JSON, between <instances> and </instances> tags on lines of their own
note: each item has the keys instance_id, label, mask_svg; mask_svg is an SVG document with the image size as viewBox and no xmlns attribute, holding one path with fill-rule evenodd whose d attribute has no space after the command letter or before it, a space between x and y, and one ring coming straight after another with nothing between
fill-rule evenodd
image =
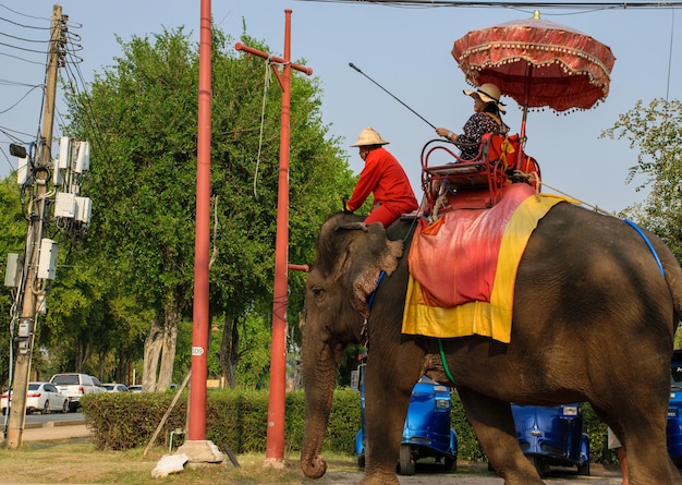
<instances>
[{"instance_id":1,"label":"low trimmed green hedge running behind the poles and elephant","mask_svg":"<svg viewBox=\"0 0 682 485\"><path fill-rule=\"evenodd\" d=\"M456 392L452 398L452 428L458 435L459 459L486 461ZM107 392L82 398L83 414L99 449L124 450L145 447L166 414L174 392ZM234 453L265 452L267 441L268 391L215 390L207 395L206 439L228 445ZM171 433L186 428L187 392L184 391L157 437L169 445ZM285 398L284 447L288 453L301 451L304 429L304 392ZM350 389L334 391L324 450L353 454L360 428L360 396ZM607 449L607 428L589 404L583 407L583 432L590 438L590 461L613 462ZM181 442L173 437L173 442Z\"/></svg>"}]
</instances>

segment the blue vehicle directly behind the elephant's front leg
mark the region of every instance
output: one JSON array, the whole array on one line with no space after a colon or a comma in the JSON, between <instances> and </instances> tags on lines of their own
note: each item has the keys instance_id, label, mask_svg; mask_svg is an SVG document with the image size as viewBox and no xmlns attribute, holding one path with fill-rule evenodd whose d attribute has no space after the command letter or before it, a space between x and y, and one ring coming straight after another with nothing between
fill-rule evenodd
<instances>
[{"instance_id":1,"label":"blue vehicle directly behind the elephant's front leg","mask_svg":"<svg viewBox=\"0 0 682 485\"><path fill-rule=\"evenodd\" d=\"M362 369L363 365L361 365ZM360 369L358 369L360 371ZM362 375L362 372L360 372ZM362 377L361 392L362 424L355 438L357 465L365 466L365 393ZM403 438L400 445L399 473L413 475L417 460L435 458L444 471L456 470L458 439L450 427L452 400L450 389L427 376L423 376L412 389L410 407L405 416Z\"/></svg>"}]
</instances>

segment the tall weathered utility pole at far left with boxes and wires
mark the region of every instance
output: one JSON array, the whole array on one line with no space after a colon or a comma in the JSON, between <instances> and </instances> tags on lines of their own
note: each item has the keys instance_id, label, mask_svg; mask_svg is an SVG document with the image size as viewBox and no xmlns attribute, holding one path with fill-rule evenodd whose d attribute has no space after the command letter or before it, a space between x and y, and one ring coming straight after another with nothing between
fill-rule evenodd
<instances>
[{"instance_id":1,"label":"tall weathered utility pole at far left with boxes and wires","mask_svg":"<svg viewBox=\"0 0 682 485\"><path fill-rule=\"evenodd\" d=\"M54 99L57 94L57 70L60 66L62 51L62 8L59 4L52 8L52 28L47 62L47 80L45 90L45 108L42 112L42 141L38 147L38 159L33 166L33 178L36 184L36 195L29 214L28 234L26 237L26 254L24 259L23 287L21 299L21 315L19 319L19 354L14 366L12 405L7 434L7 446L10 449L22 445L23 431L26 421L26 391L31 375L31 357L37 323L37 313L45 289L39 281L38 262L42 231L45 228L46 202L48 184L50 182L52 128L54 123ZM56 245L53 246L56 251Z\"/></svg>"}]
</instances>

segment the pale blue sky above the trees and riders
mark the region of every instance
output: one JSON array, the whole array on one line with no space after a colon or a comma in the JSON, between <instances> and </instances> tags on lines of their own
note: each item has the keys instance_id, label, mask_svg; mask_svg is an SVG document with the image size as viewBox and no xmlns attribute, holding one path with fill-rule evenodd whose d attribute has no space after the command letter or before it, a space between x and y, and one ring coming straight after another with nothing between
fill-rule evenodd
<instances>
[{"instance_id":1,"label":"pale blue sky above the trees and riders","mask_svg":"<svg viewBox=\"0 0 682 485\"><path fill-rule=\"evenodd\" d=\"M1 44L26 46L9 35L45 37L44 32L23 25L49 26L54 2L16 3L20 2L0 0L3 63L0 129L12 130L20 140L28 142L39 126L42 98L40 89L32 90L28 86L44 83L45 54L17 51ZM78 72L86 82L94 72L101 72L121 56L115 36L127 41L132 36L184 26L198 40L199 0L62 0L60 4L70 16L71 32L81 36L83 50L78 56L83 62ZM365 126L375 128L391 142L387 148L405 167L418 196L422 194L419 153L426 142L436 137L434 130L349 63L354 63L430 123L459 132L472 113L473 102L462 94L468 86L450 54L454 40L468 31L533 14L532 9L513 8L212 1L214 20L221 29L238 40L244 21L247 33L265 40L277 56L283 54L284 9L293 11L292 59L303 61L320 80L322 118L331 125L331 134L344 137L348 147ZM598 140L598 136L638 99L648 104L653 98L682 98L681 15L681 10L669 8L541 12L545 20L571 26L608 45L616 56L610 94L605 102L583 112L528 114L526 151L539 161L547 184L609 211L621 210L644 198L643 192L635 192L637 181L625 184L628 169L636 163L637 154L625 141ZM32 48L39 49L42 45ZM277 84L272 86L278 88ZM58 98L60 95L61 92ZM513 100L506 101L504 121L512 132L519 132L521 110ZM60 134L57 128L54 135ZM0 174L3 175L16 167L16 159L9 156L9 140L0 132ZM356 148L348 147L348 154L351 169L360 173L363 163Z\"/></svg>"}]
</instances>

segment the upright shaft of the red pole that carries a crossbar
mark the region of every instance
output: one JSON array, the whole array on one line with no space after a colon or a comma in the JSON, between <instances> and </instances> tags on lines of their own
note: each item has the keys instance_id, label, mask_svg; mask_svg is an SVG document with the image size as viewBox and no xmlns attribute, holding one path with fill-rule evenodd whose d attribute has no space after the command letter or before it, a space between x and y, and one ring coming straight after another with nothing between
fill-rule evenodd
<instances>
[{"instance_id":1,"label":"upright shaft of the red pole that carries a crossbar","mask_svg":"<svg viewBox=\"0 0 682 485\"><path fill-rule=\"evenodd\" d=\"M272 301L272 349L270 357L270 400L266 458L284 458L284 402L287 390L287 292L289 279L289 119L291 82L291 10L284 10L284 69L282 75L282 120L275 242L275 295Z\"/></svg>"}]
</instances>

